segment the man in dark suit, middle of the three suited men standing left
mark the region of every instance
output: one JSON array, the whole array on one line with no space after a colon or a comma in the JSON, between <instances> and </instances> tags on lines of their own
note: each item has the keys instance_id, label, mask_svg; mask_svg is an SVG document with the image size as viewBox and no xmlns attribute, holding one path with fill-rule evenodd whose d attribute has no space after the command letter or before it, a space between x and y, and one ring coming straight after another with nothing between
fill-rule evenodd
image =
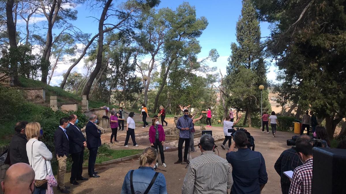
<instances>
[{"instance_id":1,"label":"man in dark suit, middle of the three suited men standing left","mask_svg":"<svg viewBox=\"0 0 346 194\"><path fill-rule=\"evenodd\" d=\"M72 158L72 167L71 167L71 178L70 183L74 185L79 185L76 180L85 181L88 178L82 176L83 172L83 156L84 156L84 147L86 147L86 139L77 126L78 117L77 115L69 116L70 126L66 128L67 136L69 136L70 142L70 154Z\"/></svg>"}]
</instances>

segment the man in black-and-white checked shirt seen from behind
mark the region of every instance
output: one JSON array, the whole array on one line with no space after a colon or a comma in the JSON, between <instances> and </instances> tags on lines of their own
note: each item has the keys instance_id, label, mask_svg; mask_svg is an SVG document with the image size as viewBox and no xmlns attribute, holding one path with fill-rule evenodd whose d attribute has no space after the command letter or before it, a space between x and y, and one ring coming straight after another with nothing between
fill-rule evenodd
<instances>
[{"instance_id":1,"label":"man in black-and-white checked shirt seen from behind","mask_svg":"<svg viewBox=\"0 0 346 194\"><path fill-rule=\"evenodd\" d=\"M211 135L201 137L199 148L202 154L190 161L182 194L226 194L233 185L231 167L213 152L214 146Z\"/></svg>"}]
</instances>

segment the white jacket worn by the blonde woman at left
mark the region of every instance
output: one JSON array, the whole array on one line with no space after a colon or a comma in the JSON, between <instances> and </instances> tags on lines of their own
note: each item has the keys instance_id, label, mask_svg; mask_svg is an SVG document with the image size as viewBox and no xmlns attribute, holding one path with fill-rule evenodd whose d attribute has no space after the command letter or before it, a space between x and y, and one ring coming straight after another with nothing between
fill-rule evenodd
<instances>
[{"instance_id":1,"label":"white jacket worn by the blonde woman at left","mask_svg":"<svg viewBox=\"0 0 346 194\"><path fill-rule=\"evenodd\" d=\"M31 146L33 147L32 152ZM26 143L26 153L28 155L30 166L35 171L36 180L45 179L47 176L47 172L48 175L53 175L50 161L53 158L53 155L52 152L49 151L49 149L43 142L40 142L35 138L29 139L28 143ZM46 160L43 157L45 157ZM47 172L45 163L47 164Z\"/></svg>"}]
</instances>

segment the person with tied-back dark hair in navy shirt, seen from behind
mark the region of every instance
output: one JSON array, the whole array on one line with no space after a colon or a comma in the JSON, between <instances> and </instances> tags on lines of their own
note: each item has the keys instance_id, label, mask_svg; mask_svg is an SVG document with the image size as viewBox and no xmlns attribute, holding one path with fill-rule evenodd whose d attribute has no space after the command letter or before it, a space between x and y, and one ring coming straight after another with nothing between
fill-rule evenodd
<instances>
[{"instance_id":1,"label":"person with tied-back dark hair in navy shirt, seen from behind","mask_svg":"<svg viewBox=\"0 0 346 194\"><path fill-rule=\"evenodd\" d=\"M247 148L250 142L243 131L233 135L226 159L232 165L233 187L231 193L258 194L268 181L265 162L260 152ZM234 152L234 148L238 148Z\"/></svg>"}]
</instances>

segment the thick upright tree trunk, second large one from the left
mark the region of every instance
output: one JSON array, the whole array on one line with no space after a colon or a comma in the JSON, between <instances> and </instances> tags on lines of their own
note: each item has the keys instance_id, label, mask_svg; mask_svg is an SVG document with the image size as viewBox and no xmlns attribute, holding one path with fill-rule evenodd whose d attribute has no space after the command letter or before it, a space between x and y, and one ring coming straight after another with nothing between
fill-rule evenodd
<instances>
[{"instance_id":1,"label":"thick upright tree trunk, second large one from the left","mask_svg":"<svg viewBox=\"0 0 346 194\"><path fill-rule=\"evenodd\" d=\"M58 11L60 9L61 0L53 0L52 1L52 7L48 14L48 29L47 29L47 40L46 40L46 46L43 49L42 54L42 60L41 60L41 81L43 83L47 83L47 77L48 77L48 69L49 69L49 58L51 56L51 48L52 48L52 42L53 42L53 25L55 22L55 18L57 17ZM45 6L43 6L43 9L45 9ZM54 17L54 19L53 19Z\"/></svg>"}]
</instances>

